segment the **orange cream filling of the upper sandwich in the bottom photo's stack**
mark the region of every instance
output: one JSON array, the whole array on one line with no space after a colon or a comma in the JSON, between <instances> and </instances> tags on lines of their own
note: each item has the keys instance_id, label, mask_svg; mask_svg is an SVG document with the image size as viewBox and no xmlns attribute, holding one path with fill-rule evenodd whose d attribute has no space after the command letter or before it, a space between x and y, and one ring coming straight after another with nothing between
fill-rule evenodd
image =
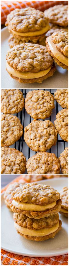
<instances>
[{"instance_id":1,"label":"orange cream filling of the upper sandwich in the bottom photo's stack","mask_svg":"<svg viewBox=\"0 0 69 266\"><path fill-rule=\"evenodd\" d=\"M16 202L14 199L12 201L13 206L18 208L19 210L24 211L45 211L47 209L51 209L56 205L56 201L52 202L51 204L47 205L37 205L32 203L23 203L23 202Z\"/></svg>"}]
</instances>

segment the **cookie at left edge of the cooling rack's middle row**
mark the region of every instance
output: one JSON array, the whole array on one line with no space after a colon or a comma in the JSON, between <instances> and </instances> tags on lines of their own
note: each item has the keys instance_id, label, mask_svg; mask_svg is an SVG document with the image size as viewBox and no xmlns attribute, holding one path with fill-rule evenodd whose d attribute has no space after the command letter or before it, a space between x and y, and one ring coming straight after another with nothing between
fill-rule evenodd
<instances>
[{"instance_id":1,"label":"cookie at left edge of the cooling rack's middle row","mask_svg":"<svg viewBox=\"0 0 69 266\"><path fill-rule=\"evenodd\" d=\"M17 116L1 115L1 146L11 146L23 135L23 126Z\"/></svg>"}]
</instances>

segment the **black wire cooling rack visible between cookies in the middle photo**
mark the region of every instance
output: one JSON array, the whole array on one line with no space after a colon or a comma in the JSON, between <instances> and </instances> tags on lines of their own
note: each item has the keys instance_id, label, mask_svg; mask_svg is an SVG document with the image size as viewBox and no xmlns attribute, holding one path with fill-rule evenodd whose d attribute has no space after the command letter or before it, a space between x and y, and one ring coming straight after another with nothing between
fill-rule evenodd
<instances>
[{"instance_id":1,"label":"black wire cooling rack visible between cookies in the middle photo","mask_svg":"<svg viewBox=\"0 0 69 266\"><path fill-rule=\"evenodd\" d=\"M32 89L31 89L32 90ZM45 89L44 89L45 90ZM28 90L28 89L22 89L21 90L22 92L23 92L23 97L25 98L26 97L26 94L27 94L27 92L28 91L30 91L30 90ZM54 95L54 92L52 92L52 91L56 91L56 90L49 90L50 92L51 92L51 94L52 95ZM58 113L58 103L55 101L55 104L56 104L56 114ZM62 108L61 108L62 109ZM26 112L26 110L25 110L25 108L23 108L23 110L20 112L20 113L17 113L16 115L17 115L17 117L20 119L20 122L21 122L21 124L23 125L23 136L21 137L21 139L19 139L19 141L17 141L17 142L15 142L15 144L14 144L14 148L17 148L19 151L21 151L21 152L23 152L23 154L25 155L25 147L24 147L24 143L25 143L25 140L24 140L24 127L25 127L25 119L26 119L26 115L28 115L27 113L26 113L26 115L25 115L25 112ZM31 116L30 115L28 115L29 116L29 122L28 122L28 124L29 123L31 123L31 121L32 121L32 118L31 118ZM56 119L56 117L55 117L55 119ZM54 119L54 120L55 120ZM51 121L51 116L48 118L48 120L50 120ZM43 120L44 121L44 120ZM27 125L28 125L27 124ZM61 143L63 143L63 148L62 148L62 150L61 150L61 152L65 149L65 145L67 146L67 144L66 144L66 142L65 141L63 141L61 138L59 138L59 135L57 135L57 143L56 143L56 156L57 157L59 157L59 154L58 154L58 151L59 151L59 147L60 147L60 144ZM26 143L25 143L26 144ZM27 145L27 144L26 144ZM59 147L58 147L59 146ZM54 147L54 146L53 146ZM53 148L54 149L54 148ZM33 155L33 154L36 154L36 152L33 152L33 154L32 155L30 155L30 148L27 146L27 156L25 155L25 157L27 157L27 160ZM47 152L50 152L50 153L52 153L52 151L51 151L51 148L47 151ZM54 151L53 151L53 153L55 153Z\"/></svg>"}]
</instances>

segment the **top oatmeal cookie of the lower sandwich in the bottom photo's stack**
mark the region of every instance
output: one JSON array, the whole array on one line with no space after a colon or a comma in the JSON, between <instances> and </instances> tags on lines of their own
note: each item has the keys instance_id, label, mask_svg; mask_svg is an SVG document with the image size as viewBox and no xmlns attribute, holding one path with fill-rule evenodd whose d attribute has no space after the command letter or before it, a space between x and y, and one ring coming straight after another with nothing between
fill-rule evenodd
<instances>
[{"instance_id":1,"label":"top oatmeal cookie of the lower sandwich in the bottom photo's stack","mask_svg":"<svg viewBox=\"0 0 69 266\"><path fill-rule=\"evenodd\" d=\"M26 215L18 214L18 213L13 213L13 219L15 223L17 223L21 227L26 227L28 229L42 229L42 228L50 228L54 224L56 224L59 220L59 215L58 213L48 217L44 217L41 219L34 219L34 218L28 218Z\"/></svg>"}]
</instances>

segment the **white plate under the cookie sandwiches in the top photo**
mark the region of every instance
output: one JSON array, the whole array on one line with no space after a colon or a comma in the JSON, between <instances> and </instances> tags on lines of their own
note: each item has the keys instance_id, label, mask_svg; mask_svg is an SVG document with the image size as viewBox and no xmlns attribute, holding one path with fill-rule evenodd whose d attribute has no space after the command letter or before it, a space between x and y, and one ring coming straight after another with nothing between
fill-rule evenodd
<instances>
[{"instance_id":1,"label":"white plate under the cookie sandwiches in the top photo","mask_svg":"<svg viewBox=\"0 0 69 266\"><path fill-rule=\"evenodd\" d=\"M10 77L6 71L6 53L10 49L8 46L8 27L1 30L1 88L2 89L68 89L68 71L56 64L54 75L42 83L24 84L18 83Z\"/></svg>"}]
</instances>

